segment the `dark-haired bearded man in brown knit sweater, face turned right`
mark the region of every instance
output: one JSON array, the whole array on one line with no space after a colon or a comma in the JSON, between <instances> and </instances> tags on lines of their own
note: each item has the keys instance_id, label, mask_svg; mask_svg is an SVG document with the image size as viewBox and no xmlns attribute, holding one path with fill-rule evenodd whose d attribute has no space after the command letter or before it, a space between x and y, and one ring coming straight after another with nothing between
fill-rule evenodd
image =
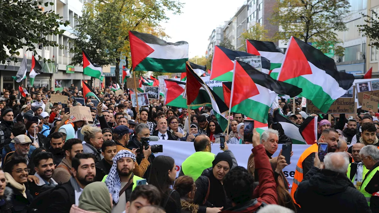
<instances>
[{"instance_id":1,"label":"dark-haired bearded man in brown knit sweater, face turned right","mask_svg":"<svg viewBox=\"0 0 379 213\"><path fill-rule=\"evenodd\" d=\"M81 144L81 140L78 138L67 140L63 145L63 151L65 157L55 168L53 174L53 179L59 184L69 182L72 175L72 158L74 158L78 153L83 153L83 145Z\"/></svg>"}]
</instances>

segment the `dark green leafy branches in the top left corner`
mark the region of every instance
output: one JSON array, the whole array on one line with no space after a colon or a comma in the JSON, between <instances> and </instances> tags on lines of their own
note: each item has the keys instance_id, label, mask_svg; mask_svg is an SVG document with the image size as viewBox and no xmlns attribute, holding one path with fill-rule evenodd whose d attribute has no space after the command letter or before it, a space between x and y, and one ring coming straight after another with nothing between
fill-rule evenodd
<instances>
[{"instance_id":1,"label":"dark green leafy branches in the top left corner","mask_svg":"<svg viewBox=\"0 0 379 213\"><path fill-rule=\"evenodd\" d=\"M53 5L52 2L46 2L44 5ZM7 51L13 61L18 61L20 55L19 49L27 47L27 50L33 51L37 55L36 45L57 47L55 41L49 41L45 36L57 35L64 33L60 30L59 25L67 26L70 22L57 21L62 19L54 11L43 12L38 8L42 2L35 0L2 0L0 1L0 61L5 63L8 58ZM16 57L14 57L17 55ZM38 56L41 60L41 56ZM51 60L44 61L50 62Z\"/></svg>"}]
</instances>

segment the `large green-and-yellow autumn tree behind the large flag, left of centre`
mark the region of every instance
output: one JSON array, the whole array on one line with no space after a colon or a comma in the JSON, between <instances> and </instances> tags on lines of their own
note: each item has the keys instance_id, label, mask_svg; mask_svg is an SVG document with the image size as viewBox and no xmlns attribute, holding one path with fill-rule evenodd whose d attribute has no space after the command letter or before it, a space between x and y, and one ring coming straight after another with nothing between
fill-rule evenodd
<instances>
[{"instance_id":1,"label":"large green-and-yellow autumn tree behind the large flag, left of centre","mask_svg":"<svg viewBox=\"0 0 379 213\"><path fill-rule=\"evenodd\" d=\"M159 23L168 20L167 11L180 13L182 3L176 0L94 0L86 3L79 24L75 27L75 53L72 64L82 64L81 48L85 48L94 63L100 66L115 64L119 83L120 57L130 62L128 31L166 37ZM140 74L137 73L136 74Z\"/></svg>"}]
</instances>

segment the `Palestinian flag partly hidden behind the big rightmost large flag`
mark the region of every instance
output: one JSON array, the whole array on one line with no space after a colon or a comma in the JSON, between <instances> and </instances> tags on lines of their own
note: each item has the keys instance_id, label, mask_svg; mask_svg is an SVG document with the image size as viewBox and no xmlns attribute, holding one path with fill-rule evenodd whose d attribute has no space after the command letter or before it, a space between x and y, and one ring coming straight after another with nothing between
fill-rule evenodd
<instances>
[{"instance_id":1,"label":"Palestinian flag partly hidden behind the big rightmost large flag","mask_svg":"<svg viewBox=\"0 0 379 213\"><path fill-rule=\"evenodd\" d=\"M260 55L270 61L269 75L275 80L282 66L284 53L271 41L246 40L246 52Z\"/></svg>"}]
</instances>

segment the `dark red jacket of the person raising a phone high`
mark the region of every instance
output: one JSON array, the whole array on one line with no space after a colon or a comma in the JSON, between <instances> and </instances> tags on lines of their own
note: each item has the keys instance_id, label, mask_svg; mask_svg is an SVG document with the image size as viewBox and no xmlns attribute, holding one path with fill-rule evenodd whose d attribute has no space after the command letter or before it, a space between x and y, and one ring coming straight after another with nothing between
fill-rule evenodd
<instances>
[{"instance_id":1,"label":"dark red jacket of the person raising a phone high","mask_svg":"<svg viewBox=\"0 0 379 213\"><path fill-rule=\"evenodd\" d=\"M255 156L255 169L258 170L258 178L260 180L259 185L254 190L253 197L258 198L222 212L253 213L258 211L262 202L265 204L278 203L274 172L271 168L265 147L263 144L259 144L252 149L252 152Z\"/></svg>"}]
</instances>

